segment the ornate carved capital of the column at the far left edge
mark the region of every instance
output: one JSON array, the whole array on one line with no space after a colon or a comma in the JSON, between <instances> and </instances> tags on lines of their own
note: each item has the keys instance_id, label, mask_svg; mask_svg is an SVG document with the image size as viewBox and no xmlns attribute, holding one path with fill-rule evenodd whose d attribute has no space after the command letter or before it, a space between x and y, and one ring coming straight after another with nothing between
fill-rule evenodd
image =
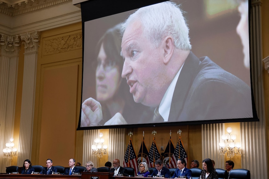
<instances>
[{"instance_id":1,"label":"ornate carved capital of the column at the far left edge","mask_svg":"<svg viewBox=\"0 0 269 179\"><path fill-rule=\"evenodd\" d=\"M20 52L20 36L0 34L0 54L8 57L18 56Z\"/></svg>"}]
</instances>

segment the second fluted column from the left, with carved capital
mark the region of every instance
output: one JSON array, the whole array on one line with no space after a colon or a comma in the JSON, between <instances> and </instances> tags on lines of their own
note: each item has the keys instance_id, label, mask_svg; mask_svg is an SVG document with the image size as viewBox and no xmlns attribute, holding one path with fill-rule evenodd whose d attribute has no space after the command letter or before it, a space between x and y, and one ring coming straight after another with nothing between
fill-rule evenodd
<instances>
[{"instance_id":1,"label":"second fluted column from the left, with carved capital","mask_svg":"<svg viewBox=\"0 0 269 179\"><path fill-rule=\"evenodd\" d=\"M23 163L25 159L31 159L39 32L20 35L25 52L18 164Z\"/></svg>"}]
</instances>

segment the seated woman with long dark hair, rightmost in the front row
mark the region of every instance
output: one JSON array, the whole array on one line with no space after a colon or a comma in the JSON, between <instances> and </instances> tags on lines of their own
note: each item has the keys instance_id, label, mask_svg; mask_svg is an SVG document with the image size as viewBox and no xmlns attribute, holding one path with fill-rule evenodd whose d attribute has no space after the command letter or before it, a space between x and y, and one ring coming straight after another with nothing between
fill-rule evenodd
<instances>
[{"instance_id":1,"label":"seated woman with long dark hair, rightmost in the front row","mask_svg":"<svg viewBox=\"0 0 269 179\"><path fill-rule=\"evenodd\" d=\"M213 163L210 158L203 160L203 171L201 173L201 178L204 179L218 179L218 173L213 167Z\"/></svg>"}]
</instances>

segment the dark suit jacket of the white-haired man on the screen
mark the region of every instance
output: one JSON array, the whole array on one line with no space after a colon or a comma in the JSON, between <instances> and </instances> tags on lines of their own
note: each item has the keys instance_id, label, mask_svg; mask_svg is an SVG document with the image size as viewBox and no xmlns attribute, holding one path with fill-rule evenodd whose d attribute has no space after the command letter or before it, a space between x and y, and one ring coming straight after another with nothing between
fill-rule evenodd
<instances>
[{"instance_id":1,"label":"dark suit jacket of the white-haired man on the screen","mask_svg":"<svg viewBox=\"0 0 269 179\"><path fill-rule=\"evenodd\" d=\"M250 117L251 89L208 57L188 55L175 86L168 121Z\"/></svg>"}]
</instances>

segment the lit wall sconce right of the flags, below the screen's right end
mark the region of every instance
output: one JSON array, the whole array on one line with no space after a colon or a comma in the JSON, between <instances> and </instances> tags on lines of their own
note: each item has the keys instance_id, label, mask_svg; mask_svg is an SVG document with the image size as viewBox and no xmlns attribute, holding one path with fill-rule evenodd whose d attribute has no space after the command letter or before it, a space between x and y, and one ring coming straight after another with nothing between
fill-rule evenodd
<instances>
[{"instance_id":1,"label":"lit wall sconce right of the flags, below the screen's right end","mask_svg":"<svg viewBox=\"0 0 269 179\"><path fill-rule=\"evenodd\" d=\"M230 159L234 157L234 155L241 155L241 143L240 142L234 142L236 139L236 135L231 135L232 128L227 128L228 134L223 134L221 136L223 142L219 143L219 154L224 155L227 154L227 157Z\"/></svg>"}]
</instances>

